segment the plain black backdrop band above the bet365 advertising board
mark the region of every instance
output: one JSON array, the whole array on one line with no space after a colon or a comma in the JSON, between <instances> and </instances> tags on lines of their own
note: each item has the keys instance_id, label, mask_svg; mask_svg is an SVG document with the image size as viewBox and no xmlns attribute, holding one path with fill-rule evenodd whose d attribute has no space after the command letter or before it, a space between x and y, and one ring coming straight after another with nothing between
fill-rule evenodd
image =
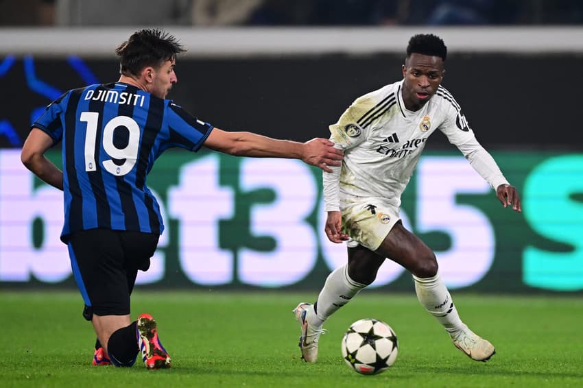
<instances>
[{"instance_id":1,"label":"plain black backdrop band above the bet365 advertising board","mask_svg":"<svg viewBox=\"0 0 583 388\"><path fill-rule=\"evenodd\" d=\"M16 58L0 77L0 121L25 138L34 108L50 100L26 82ZM36 77L62 91L84 86L64 59L33 57ZM99 82L117 80L115 59L84 60ZM401 78L403 56L280 56L179 58L179 84L169 98L227 130L305 141L327 137L327 126L359 95ZM578 150L583 144L579 106L583 75L578 53L451 53L443 86L462 106L488 149ZM10 147L6 136L0 146ZM449 149L441 134L429 149Z\"/></svg>"}]
</instances>

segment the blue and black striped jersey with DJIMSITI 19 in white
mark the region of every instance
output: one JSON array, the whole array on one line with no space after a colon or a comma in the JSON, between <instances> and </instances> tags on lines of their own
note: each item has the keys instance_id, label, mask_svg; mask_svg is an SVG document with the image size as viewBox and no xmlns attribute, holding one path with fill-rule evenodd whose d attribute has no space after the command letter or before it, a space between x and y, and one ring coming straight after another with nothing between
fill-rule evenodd
<instances>
[{"instance_id":1,"label":"blue and black striped jersey with DJIMSITI 19 in white","mask_svg":"<svg viewBox=\"0 0 583 388\"><path fill-rule=\"evenodd\" d=\"M93 228L161 234L146 176L165 149L197 151L213 129L173 101L121 82L69 90L32 127L62 141L64 242Z\"/></svg>"}]
</instances>

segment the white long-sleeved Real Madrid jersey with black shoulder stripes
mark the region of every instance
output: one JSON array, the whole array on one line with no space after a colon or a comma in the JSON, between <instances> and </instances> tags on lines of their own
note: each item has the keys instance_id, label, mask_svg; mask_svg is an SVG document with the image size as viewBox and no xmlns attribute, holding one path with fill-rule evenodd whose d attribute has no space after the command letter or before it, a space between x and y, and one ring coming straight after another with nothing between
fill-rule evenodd
<instances>
[{"instance_id":1,"label":"white long-sleeved Real Madrid jersey with black shoulder stripes","mask_svg":"<svg viewBox=\"0 0 583 388\"><path fill-rule=\"evenodd\" d=\"M493 188L508 184L492 156L479 145L460 106L442 86L416 112L403 104L403 81L357 98L337 123L331 141L344 150L342 167L324 173L326 211L367 197L401 206L427 138L442 131Z\"/></svg>"}]
</instances>

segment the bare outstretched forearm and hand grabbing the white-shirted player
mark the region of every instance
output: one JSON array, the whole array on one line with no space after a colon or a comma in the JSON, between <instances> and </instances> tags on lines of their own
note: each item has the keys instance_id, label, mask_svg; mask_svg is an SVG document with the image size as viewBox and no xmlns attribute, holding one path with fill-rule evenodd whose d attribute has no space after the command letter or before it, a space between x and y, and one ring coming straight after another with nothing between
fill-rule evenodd
<instances>
[{"instance_id":1,"label":"bare outstretched forearm and hand grabbing the white-shirted player","mask_svg":"<svg viewBox=\"0 0 583 388\"><path fill-rule=\"evenodd\" d=\"M313 138L306 143L278 140L251 132L226 132L214 128L204 145L215 151L235 156L255 158L300 159L308 165L330 172L329 166L340 166L342 151L324 138Z\"/></svg>"}]
</instances>

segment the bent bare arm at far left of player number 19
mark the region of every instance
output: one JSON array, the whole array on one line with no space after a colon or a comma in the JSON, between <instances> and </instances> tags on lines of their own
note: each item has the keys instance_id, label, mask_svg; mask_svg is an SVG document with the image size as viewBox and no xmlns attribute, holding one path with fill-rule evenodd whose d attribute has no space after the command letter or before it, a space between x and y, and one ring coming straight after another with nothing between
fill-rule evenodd
<instances>
[{"instance_id":1,"label":"bent bare arm at far left of player number 19","mask_svg":"<svg viewBox=\"0 0 583 388\"><path fill-rule=\"evenodd\" d=\"M62 171L45 156L52 145L51 136L43 130L32 128L22 147L21 160L38 178L62 190Z\"/></svg>"}]
</instances>

